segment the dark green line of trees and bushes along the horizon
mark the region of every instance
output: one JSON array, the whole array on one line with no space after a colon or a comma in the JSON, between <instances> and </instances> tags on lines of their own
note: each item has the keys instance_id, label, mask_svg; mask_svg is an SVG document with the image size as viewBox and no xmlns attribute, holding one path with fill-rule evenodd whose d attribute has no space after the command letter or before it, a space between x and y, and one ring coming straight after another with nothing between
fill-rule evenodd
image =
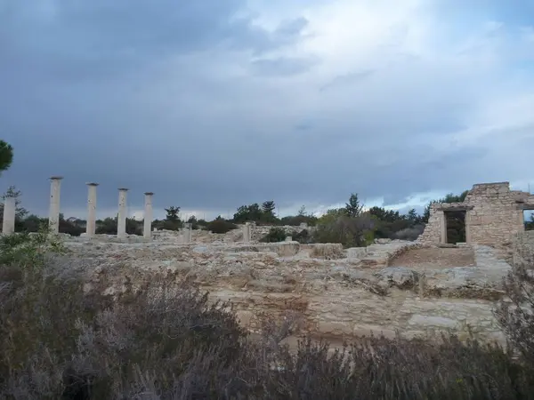
<instances>
[{"instance_id":1,"label":"dark green line of trees and bushes along the horizon","mask_svg":"<svg viewBox=\"0 0 534 400\"><path fill-rule=\"evenodd\" d=\"M13 160L13 148L4 140L0 140L0 172L7 170ZM430 207L434 203L461 203L465 200L468 191L460 195L452 193L441 199L429 202L425 211L418 214L415 209L406 213L387 210L384 207L365 208L360 202L357 193L352 193L344 207L330 209L321 216L307 212L303 205L295 215L279 217L276 213L276 204L273 200L266 200L262 204L253 203L241 205L231 219L223 219L218 216L214 220L198 220L191 216L188 220L180 218L180 207L176 205L165 209L166 217L162 220L154 220L153 228L178 230L184 223L189 223L193 229L207 229L214 233L226 233L237 224L255 222L257 225L273 226L299 226L306 223L313 229L313 237L304 232L303 241L314 240L316 242L336 242L344 245L364 245L376 238L415 240L419 236L430 217ZM20 202L20 190L10 187L4 194L5 197L14 197L16 204L15 230L36 232L39 227L47 223L46 218L30 214ZM4 205L0 204L0 216L4 214ZM465 241L465 214L463 212L448 212L447 226L449 242L457 243ZM126 219L126 233L129 235L142 235L142 220L133 218ZM69 218L65 219L60 214L60 232L72 236L79 236L85 232L86 220ZM534 215L530 221L525 222L526 229L534 229ZM96 221L96 233L113 235L117 233L117 215ZM273 230L265 240L283 240L285 232L281 229Z\"/></svg>"}]
</instances>

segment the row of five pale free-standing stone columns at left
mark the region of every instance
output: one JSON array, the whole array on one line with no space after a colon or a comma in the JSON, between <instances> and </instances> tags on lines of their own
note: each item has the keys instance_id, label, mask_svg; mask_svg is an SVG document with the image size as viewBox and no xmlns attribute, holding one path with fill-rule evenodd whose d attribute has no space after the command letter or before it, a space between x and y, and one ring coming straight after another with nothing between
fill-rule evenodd
<instances>
[{"instance_id":1,"label":"row of five pale free-standing stone columns at left","mask_svg":"<svg viewBox=\"0 0 534 400\"><path fill-rule=\"evenodd\" d=\"M50 178L50 209L48 212L48 226L55 234L60 231L60 196L61 196L61 176ZM86 236L93 236L96 232L96 188L98 183L87 183L87 226ZM118 189L118 220L117 220L117 237L126 236L126 217L127 217L127 188ZM152 196L154 193L147 192L144 194L144 225L143 236L150 239L152 236ZM4 200L4 220L2 223L2 232L11 234L15 231L15 198L6 197Z\"/></svg>"}]
</instances>

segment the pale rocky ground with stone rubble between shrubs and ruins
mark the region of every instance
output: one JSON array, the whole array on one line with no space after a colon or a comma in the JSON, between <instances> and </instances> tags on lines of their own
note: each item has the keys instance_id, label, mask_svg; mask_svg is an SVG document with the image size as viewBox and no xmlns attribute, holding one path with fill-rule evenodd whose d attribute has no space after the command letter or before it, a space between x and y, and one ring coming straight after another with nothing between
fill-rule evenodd
<instances>
[{"instance_id":1,"label":"pale rocky ground with stone rubble between shrubs and ruins","mask_svg":"<svg viewBox=\"0 0 534 400\"><path fill-rule=\"evenodd\" d=\"M344 250L340 244L243 244L232 240L238 234L197 236L192 244L161 233L151 242L95 237L70 238L67 245L69 257L84 265L87 291L106 282L106 292L117 294L156 273L187 280L212 300L230 301L252 332L264 316L298 316L302 332L336 340L444 330L502 340L492 309L510 266L489 247L381 241Z\"/></svg>"}]
</instances>

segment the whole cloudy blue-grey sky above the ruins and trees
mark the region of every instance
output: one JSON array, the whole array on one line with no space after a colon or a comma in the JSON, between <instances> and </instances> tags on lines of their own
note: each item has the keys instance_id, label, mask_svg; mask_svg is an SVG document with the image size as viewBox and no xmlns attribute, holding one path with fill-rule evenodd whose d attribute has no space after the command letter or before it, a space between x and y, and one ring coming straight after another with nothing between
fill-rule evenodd
<instances>
[{"instance_id":1,"label":"whole cloudy blue-grey sky above the ruins and trees","mask_svg":"<svg viewBox=\"0 0 534 400\"><path fill-rule=\"evenodd\" d=\"M534 188L531 0L0 0L0 139L46 215L407 210Z\"/></svg>"}]
</instances>

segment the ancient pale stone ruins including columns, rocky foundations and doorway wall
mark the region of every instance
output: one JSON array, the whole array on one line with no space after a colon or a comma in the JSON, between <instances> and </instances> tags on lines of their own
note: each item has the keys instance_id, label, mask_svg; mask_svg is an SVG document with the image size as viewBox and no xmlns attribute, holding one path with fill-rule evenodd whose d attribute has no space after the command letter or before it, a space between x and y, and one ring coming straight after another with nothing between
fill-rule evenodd
<instances>
[{"instance_id":1,"label":"ancient pale stone ruins including columns, rocky foundations and doorway wall","mask_svg":"<svg viewBox=\"0 0 534 400\"><path fill-rule=\"evenodd\" d=\"M52 180L50 222L58 232L61 178ZM239 321L256 332L264 316L298 316L299 332L346 340L384 333L504 340L493 315L503 296L502 278L514 261L534 260L534 236L523 232L522 211L534 196L511 191L508 183L478 184L461 204L433 204L425 232L416 242L376 240L368 247L263 244L268 227L247 223L227 234L206 230L152 231L152 196L145 193L144 235L125 233L127 189L118 196L117 236L95 235L97 184L88 184L85 235L63 235L72 268L86 276L85 291L119 296L128 284L142 287L156 274L172 282L193 282L210 300L230 301ZM14 203L4 203L4 233L12 232ZM447 212L465 213L466 243L447 242ZM292 236L306 227L282 227Z\"/></svg>"}]
</instances>

